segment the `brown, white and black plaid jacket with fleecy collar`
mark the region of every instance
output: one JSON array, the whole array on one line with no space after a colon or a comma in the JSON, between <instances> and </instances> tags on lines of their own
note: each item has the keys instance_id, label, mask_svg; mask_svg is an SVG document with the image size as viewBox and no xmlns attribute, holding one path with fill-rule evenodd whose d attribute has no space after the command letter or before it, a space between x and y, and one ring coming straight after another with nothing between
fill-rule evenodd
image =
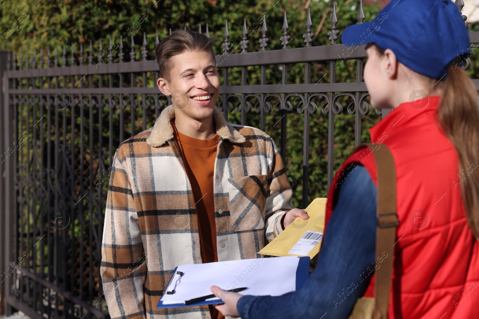
<instances>
[{"instance_id":1,"label":"brown, white and black plaid jacket with fleecy collar","mask_svg":"<svg viewBox=\"0 0 479 319\"><path fill-rule=\"evenodd\" d=\"M173 138L170 105L153 128L121 143L107 196L101 275L112 319L210 318L207 306L157 309L176 266L201 263L192 188ZM274 141L213 113L218 261L262 257L283 229L292 190Z\"/></svg>"}]
</instances>

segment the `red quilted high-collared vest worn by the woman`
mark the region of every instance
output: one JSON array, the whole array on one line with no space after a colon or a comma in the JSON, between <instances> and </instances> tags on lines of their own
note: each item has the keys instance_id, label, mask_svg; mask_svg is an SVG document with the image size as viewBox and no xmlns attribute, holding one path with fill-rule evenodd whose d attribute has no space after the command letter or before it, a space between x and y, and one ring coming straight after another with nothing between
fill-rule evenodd
<instances>
[{"instance_id":1,"label":"red quilted high-collared vest worn by the woman","mask_svg":"<svg viewBox=\"0 0 479 319\"><path fill-rule=\"evenodd\" d=\"M479 159L459 172L456 150L437 124L439 99L403 103L369 131L373 146L388 145L396 164L399 226L391 319L479 318L479 242L468 228L460 188L479 169ZM334 190L354 162L365 166L377 187L371 150L352 154L332 181L326 225ZM374 282L373 275L366 297L374 297Z\"/></svg>"}]
</instances>

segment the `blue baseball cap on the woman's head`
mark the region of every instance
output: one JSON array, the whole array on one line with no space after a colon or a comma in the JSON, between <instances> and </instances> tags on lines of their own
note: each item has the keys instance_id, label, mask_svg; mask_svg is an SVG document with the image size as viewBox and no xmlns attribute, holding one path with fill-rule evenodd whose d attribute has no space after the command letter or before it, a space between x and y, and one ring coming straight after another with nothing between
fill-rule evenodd
<instances>
[{"instance_id":1,"label":"blue baseball cap on the woman's head","mask_svg":"<svg viewBox=\"0 0 479 319\"><path fill-rule=\"evenodd\" d=\"M399 62L433 78L471 53L468 28L451 0L392 0L373 21L344 29L341 42L391 49Z\"/></svg>"}]
</instances>

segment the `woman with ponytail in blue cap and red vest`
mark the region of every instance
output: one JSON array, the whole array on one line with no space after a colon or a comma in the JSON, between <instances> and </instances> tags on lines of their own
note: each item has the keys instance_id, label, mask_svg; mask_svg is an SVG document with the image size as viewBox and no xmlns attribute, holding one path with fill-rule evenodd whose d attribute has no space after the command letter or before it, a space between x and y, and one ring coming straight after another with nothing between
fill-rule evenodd
<instances>
[{"instance_id":1,"label":"woman with ponytail in blue cap and red vest","mask_svg":"<svg viewBox=\"0 0 479 319\"><path fill-rule=\"evenodd\" d=\"M372 22L347 27L342 43L368 44L371 103L393 109L370 130L396 167L388 317L479 318L478 96L458 65L471 53L461 14L450 0L392 0ZM374 297L379 258L392 256L375 255L378 181L367 154L353 154L334 178L331 218L305 286L279 297L213 286L225 301L219 311L242 319L345 319L358 298Z\"/></svg>"}]
</instances>

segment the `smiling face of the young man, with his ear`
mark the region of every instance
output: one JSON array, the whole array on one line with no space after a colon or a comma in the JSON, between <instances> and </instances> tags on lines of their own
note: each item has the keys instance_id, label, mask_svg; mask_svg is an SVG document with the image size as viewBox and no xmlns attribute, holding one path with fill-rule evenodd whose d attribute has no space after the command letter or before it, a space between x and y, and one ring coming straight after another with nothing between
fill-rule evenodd
<instances>
[{"instance_id":1,"label":"smiling face of the young man, with his ear","mask_svg":"<svg viewBox=\"0 0 479 319\"><path fill-rule=\"evenodd\" d=\"M171 62L170 81L160 77L158 87L171 95L175 112L195 120L211 117L219 94L213 55L206 51L184 52L174 55Z\"/></svg>"}]
</instances>

